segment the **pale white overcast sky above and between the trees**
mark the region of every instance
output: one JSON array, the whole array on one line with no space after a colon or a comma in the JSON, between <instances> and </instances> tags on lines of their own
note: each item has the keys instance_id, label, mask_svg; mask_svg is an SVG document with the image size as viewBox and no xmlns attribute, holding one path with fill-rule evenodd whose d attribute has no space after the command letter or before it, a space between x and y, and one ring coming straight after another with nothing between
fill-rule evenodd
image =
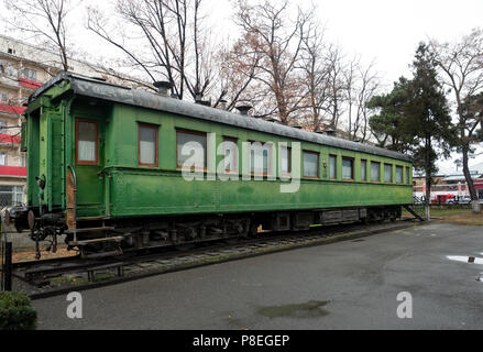
<instances>
[{"instance_id":1,"label":"pale white overcast sky above and between the trees","mask_svg":"<svg viewBox=\"0 0 483 352\"><path fill-rule=\"evenodd\" d=\"M112 1L112 0L110 0ZM276 1L276 0L275 0ZM108 11L108 1L84 0ZM326 26L328 41L339 44L350 55L360 55L364 63L374 61L387 91L393 81L405 75L420 41L454 41L483 28L483 0L301 0L301 7L314 2L317 16ZM229 0L206 0L207 21L216 37L237 37L232 3ZM78 16L78 46L95 53L107 53L106 44L96 44L94 34L83 29L85 16ZM479 152L483 152L480 147ZM483 163L483 154L471 165ZM453 168L453 162L441 162L441 168Z\"/></svg>"}]
</instances>

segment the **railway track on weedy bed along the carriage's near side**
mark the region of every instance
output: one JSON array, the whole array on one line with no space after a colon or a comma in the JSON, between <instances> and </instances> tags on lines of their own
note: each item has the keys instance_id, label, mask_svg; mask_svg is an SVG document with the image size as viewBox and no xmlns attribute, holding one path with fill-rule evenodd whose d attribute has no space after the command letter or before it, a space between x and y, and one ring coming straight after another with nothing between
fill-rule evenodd
<instances>
[{"instance_id":1,"label":"railway track on weedy bed along the carriage's near side","mask_svg":"<svg viewBox=\"0 0 483 352\"><path fill-rule=\"evenodd\" d=\"M196 266L240 260L419 224L399 220L377 224L338 224L290 233L259 233L253 239L200 243L189 249L160 249L144 254L80 260L79 256L15 263L13 275L30 287L32 299L84 290Z\"/></svg>"}]
</instances>

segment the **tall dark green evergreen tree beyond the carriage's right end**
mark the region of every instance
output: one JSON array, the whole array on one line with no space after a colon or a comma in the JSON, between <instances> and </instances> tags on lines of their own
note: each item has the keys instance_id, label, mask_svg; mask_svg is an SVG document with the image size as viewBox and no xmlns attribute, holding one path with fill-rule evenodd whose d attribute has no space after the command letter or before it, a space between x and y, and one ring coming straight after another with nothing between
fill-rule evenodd
<instances>
[{"instance_id":1,"label":"tall dark green evergreen tree beyond the carriage's right end","mask_svg":"<svg viewBox=\"0 0 483 352\"><path fill-rule=\"evenodd\" d=\"M431 175L437 172L438 155L449 156L455 130L444 91L437 79L433 54L427 45L419 44L411 67L411 80L402 77L391 94L370 101L370 108L378 109L370 124L375 134L389 140L388 145L382 146L411 154L416 169L425 172L426 216L429 218Z\"/></svg>"}]
</instances>

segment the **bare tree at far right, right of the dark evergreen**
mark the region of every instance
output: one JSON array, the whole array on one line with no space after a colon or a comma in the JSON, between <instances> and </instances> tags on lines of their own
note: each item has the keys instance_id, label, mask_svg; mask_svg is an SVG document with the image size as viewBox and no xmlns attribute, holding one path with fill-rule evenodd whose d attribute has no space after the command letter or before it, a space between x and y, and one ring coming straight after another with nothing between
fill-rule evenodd
<instances>
[{"instance_id":1,"label":"bare tree at far right, right of the dark evergreen","mask_svg":"<svg viewBox=\"0 0 483 352\"><path fill-rule=\"evenodd\" d=\"M473 30L457 43L431 42L440 76L452 90L458 116L458 150L462 154L463 174L473 200L473 209L479 211L477 194L469 169L471 144L477 142L475 131L481 122L477 114L468 113L472 97L483 91L483 31Z\"/></svg>"}]
</instances>

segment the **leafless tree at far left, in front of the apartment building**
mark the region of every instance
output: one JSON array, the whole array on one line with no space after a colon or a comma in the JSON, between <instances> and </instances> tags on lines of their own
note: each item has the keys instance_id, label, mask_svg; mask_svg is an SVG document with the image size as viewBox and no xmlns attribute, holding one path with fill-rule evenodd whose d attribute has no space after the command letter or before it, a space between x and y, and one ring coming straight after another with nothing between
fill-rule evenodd
<instances>
[{"instance_id":1,"label":"leafless tree at far left, in front of the apartment building","mask_svg":"<svg viewBox=\"0 0 483 352\"><path fill-rule=\"evenodd\" d=\"M74 0L3 0L13 16L3 19L13 30L43 40L58 53L64 70L68 70L69 43L67 15L78 4ZM13 19L13 20L11 20Z\"/></svg>"}]
</instances>

